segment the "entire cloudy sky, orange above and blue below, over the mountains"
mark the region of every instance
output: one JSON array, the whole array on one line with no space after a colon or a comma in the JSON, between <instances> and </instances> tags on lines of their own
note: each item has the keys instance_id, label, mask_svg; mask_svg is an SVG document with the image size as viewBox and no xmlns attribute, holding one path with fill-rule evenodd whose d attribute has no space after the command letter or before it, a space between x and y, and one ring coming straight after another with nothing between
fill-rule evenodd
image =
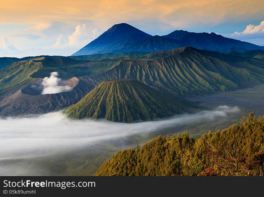
<instances>
[{"instance_id":1,"label":"entire cloudy sky, orange above and blue below, over the mountains","mask_svg":"<svg viewBox=\"0 0 264 197\"><path fill-rule=\"evenodd\" d=\"M264 46L263 0L0 0L0 57L68 56L114 24L215 32Z\"/></svg>"}]
</instances>

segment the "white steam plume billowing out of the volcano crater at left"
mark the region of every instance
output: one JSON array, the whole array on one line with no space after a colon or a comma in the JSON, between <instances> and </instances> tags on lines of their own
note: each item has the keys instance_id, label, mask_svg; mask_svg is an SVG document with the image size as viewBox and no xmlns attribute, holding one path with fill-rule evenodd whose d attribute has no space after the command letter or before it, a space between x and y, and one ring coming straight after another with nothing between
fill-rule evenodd
<instances>
[{"instance_id":1,"label":"white steam plume billowing out of the volcano crater at left","mask_svg":"<svg viewBox=\"0 0 264 197\"><path fill-rule=\"evenodd\" d=\"M71 90L71 87L68 85L58 85L61 79L57 76L58 72L52 72L50 73L50 77L44 77L43 81L41 82L41 85L44 87L41 94L55 94Z\"/></svg>"}]
</instances>

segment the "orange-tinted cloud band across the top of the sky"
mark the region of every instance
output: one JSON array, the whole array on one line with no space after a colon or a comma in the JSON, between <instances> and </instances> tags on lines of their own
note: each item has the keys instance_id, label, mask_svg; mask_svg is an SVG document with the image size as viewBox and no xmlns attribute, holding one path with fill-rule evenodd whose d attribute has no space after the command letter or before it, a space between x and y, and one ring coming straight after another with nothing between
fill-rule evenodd
<instances>
[{"instance_id":1,"label":"orange-tinted cloud band across the top of the sky","mask_svg":"<svg viewBox=\"0 0 264 197\"><path fill-rule=\"evenodd\" d=\"M232 19L258 14L263 16L263 7L263 0L1 0L0 22L36 25L52 21L74 23L93 20L106 24L146 17L177 27L188 26L194 21L218 24L227 17ZM173 18L173 13L177 10L184 15L184 18L179 16Z\"/></svg>"}]
</instances>

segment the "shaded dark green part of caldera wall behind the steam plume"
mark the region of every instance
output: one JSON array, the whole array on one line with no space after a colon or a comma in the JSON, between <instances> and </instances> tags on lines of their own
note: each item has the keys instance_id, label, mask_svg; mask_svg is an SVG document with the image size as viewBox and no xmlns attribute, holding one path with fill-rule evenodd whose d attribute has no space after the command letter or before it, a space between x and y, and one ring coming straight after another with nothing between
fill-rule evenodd
<instances>
[{"instance_id":1,"label":"shaded dark green part of caldera wall behind the steam plume","mask_svg":"<svg viewBox=\"0 0 264 197\"><path fill-rule=\"evenodd\" d=\"M124 55L124 56L121 56ZM128 52L119 54L81 55L70 57L44 58L40 60L43 67L32 75L34 78L49 76L49 73L57 71L61 78L69 79L77 76L97 75L115 67L122 60L155 59L165 54L148 55L146 52ZM90 60L89 60L90 59Z\"/></svg>"}]
</instances>

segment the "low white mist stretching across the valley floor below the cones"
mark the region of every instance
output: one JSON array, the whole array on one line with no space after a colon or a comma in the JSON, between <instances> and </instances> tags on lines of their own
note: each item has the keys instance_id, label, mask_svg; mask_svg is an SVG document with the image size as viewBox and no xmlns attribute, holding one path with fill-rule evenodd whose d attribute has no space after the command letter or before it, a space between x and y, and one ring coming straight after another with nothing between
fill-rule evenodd
<instances>
[{"instance_id":1,"label":"low white mist stretching across the valley floor below the cones","mask_svg":"<svg viewBox=\"0 0 264 197\"><path fill-rule=\"evenodd\" d=\"M139 123L71 120L62 112L8 117L0 119L0 162L67 153L97 142L150 133L183 123L221 118L237 112L239 112L238 107L219 106L211 111Z\"/></svg>"}]
</instances>

